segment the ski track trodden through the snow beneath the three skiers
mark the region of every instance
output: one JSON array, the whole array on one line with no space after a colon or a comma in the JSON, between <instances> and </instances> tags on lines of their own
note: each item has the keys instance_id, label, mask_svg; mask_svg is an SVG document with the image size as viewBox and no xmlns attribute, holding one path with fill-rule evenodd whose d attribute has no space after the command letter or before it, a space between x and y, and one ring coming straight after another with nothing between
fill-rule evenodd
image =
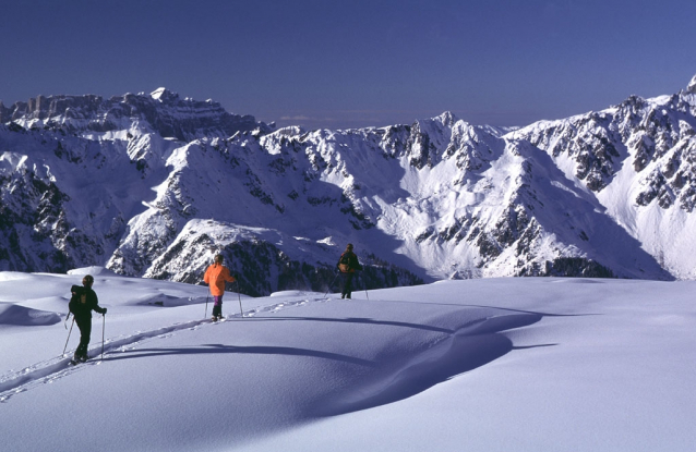
<instances>
[{"instance_id":1,"label":"ski track trodden through the snow beneath the three skiers","mask_svg":"<svg viewBox=\"0 0 696 452\"><path fill-rule=\"evenodd\" d=\"M253 317L257 314L273 314L290 307L302 306L312 302L327 302L331 298L322 297L311 301L285 301L272 306L250 309L243 314L243 317ZM242 315L228 315L224 318L224 320L229 318L242 318ZM104 345L104 355L108 356L109 354L133 350L136 347L136 345L140 345L145 341L168 338L177 331L197 330L202 327L215 325L218 325L218 322L212 322L209 319L206 318L202 320L191 320L184 323L175 323L169 327L158 328L151 331L137 331L134 334L125 337L116 337L110 339L107 338ZM91 347L89 352L95 357L87 361L86 363L82 363L76 366L70 365L74 349L69 349L64 354L58 357L46 359L27 366L22 370L10 371L5 375L0 376L0 403L7 403L13 395L25 392L39 384L50 384L74 372L85 370L86 368L88 368L88 366L98 366L99 364L101 364L101 358L99 357L101 352L101 344ZM96 354L96 352L99 352L99 354Z\"/></svg>"}]
</instances>

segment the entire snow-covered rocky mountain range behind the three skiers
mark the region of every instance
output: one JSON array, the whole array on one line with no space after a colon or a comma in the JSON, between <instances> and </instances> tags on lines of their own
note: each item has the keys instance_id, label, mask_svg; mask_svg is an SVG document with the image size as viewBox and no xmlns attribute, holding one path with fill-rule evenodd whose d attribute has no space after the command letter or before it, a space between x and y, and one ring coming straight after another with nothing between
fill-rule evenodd
<instances>
[{"instance_id":1,"label":"entire snow-covered rocky mountain range behind the three skiers","mask_svg":"<svg viewBox=\"0 0 696 452\"><path fill-rule=\"evenodd\" d=\"M197 282L223 253L252 295L443 278L693 279L696 82L521 129L276 130L151 95L0 105L0 270L106 265Z\"/></svg>"}]
</instances>

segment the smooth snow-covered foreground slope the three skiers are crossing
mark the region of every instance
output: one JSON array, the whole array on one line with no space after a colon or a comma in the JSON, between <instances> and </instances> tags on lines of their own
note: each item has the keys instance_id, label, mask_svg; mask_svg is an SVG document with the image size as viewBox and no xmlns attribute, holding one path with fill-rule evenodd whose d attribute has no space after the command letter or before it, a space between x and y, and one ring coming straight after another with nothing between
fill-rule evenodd
<instances>
[{"instance_id":1,"label":"smooth snow-covered foreground slope the three skiers are crossing","mask_svg":"<svg viewBox=\"0 0 696 452\"><path fill-rule=\"evenodd\" d=\"M109 313L93 319L94 358L68 367L69 288L85 272ZM228 293L211 323L202 286L0 272L3 450L686 452L695 289L525 278L352 301ZM76 343L73 330L69 354Z\"/></svg>"}]
</instances>

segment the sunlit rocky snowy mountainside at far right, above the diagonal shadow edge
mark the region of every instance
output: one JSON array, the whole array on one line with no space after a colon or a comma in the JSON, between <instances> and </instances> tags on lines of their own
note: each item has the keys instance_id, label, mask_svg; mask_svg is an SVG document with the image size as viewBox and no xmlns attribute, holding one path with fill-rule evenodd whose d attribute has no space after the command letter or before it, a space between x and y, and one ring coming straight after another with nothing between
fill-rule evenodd
<instances>
[{"instance_id":1,"label":"sunlit rocky snowy mountainside at far right, above the diagonal shadow edge","mask_svg":"<svg viewBox=\"0 0 696 452\"><path fill-rule=\"evenodd\" d=\"M694 278L696 260L683 249L694 246L695 117L689 88L653 99L631 96L607 110L532 124L505 137L547 151L661 266Z\"/></svg>"}]
</instances>

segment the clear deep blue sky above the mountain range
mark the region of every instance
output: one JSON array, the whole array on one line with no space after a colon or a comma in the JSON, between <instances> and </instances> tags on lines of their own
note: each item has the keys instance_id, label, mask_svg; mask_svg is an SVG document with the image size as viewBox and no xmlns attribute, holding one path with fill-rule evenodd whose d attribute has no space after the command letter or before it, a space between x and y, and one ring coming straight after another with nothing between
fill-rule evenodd
<instances>
[{"instance_id":1,"label":"clear deep blue sky above the mountain range","mask_svg":"<svg viewBox=\"0 0 696 452\"><path fill-rule=\"evenodd\" d=\"M694 0L0 0L0 100L157 87L279 125L525 125L685 88Z\"/></svg>"}]
</instances>

